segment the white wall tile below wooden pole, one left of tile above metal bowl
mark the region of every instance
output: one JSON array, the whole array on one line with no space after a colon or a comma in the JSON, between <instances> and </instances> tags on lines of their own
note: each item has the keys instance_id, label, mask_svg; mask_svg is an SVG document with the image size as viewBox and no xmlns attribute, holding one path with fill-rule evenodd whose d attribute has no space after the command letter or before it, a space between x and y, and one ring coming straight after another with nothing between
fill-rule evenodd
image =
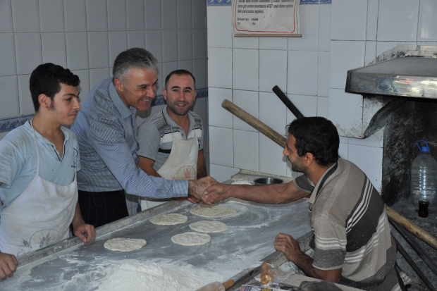
<instances>
[{"instance_id":1,"label":"white wall tile below wooden pole, one left of tile above metal bowl","mask_svg":"<svg viewBox=\"0 0 437 291\"><path fill-rule=\"evenodd\" d=\"M234 167L259 171L259 133L233 131Z\"/></svg>"}]
</instances>

